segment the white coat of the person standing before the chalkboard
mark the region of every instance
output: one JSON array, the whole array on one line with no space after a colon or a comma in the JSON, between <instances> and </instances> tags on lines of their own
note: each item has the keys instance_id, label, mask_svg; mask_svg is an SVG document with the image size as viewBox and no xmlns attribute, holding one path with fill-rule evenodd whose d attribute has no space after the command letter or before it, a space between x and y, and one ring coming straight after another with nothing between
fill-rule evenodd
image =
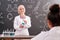
<instances>
[{"instance_id":1,"label":"white coat of the person standing before the chalkboard","mask_svg":"<svg viewBox=\"0 0 60 40\"><path fill-rule=\"evenodd\" d=\"M15 35L29 35L28 28L31 27L31 19L29 16L26 16L24 20L27 21L27 24L24 25L24 28L20 28L20 24L22 24L22 22L24 21L23 19L20 18L20 15L15 17L14 19L14 29L16 29Z\"/></svg>"}]
</instances>

